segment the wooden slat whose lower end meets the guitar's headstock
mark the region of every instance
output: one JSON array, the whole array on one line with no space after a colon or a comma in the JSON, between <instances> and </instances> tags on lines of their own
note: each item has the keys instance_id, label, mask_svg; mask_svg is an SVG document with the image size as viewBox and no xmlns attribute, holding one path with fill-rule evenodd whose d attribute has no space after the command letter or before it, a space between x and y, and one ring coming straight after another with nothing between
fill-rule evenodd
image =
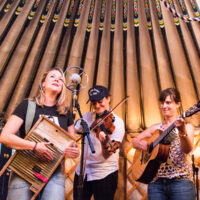
<instances>
[{"instance_id":1,"label":"wooden slat whose lower end meets the guitar's headstock","mask_svg":"<svg viewBox=\"0 0 200 200\"><path fill-rule=\"evenodd\" d=\"M165 30L172 60L173 75L176 86L180 91L183 110L197 102L197 95L194 90L191 73L188 67L187 58L180 38L180 27L174 24L171 13L161 4L165 21ZM182 31L182 30L181 30Z\"/></svg>"}]
</instances>

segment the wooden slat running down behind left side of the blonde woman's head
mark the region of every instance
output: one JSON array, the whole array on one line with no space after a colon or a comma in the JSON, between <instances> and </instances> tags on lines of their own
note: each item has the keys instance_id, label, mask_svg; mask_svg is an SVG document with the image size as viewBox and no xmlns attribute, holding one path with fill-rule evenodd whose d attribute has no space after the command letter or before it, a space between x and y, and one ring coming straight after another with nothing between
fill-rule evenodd
<instances>
[{"instance_id":1,"label":"wooden slat running down behind left side of the blonde woman's head","mask_svg":"<svg viewBox=\"0 0 200 200\"><path fill-rule=\"evenodd\" d=\"M47 47L45 49L44 55L42 56L42 61L40 63L37 75L35 77L35 80L30 92L31 97L35 96L43 74L53 67L54 61L56 59L57 51L59 48L58 44L60 41L60 36L62 33L63 24L64 24L64 20L67 14L68 6L69 6L69 1L64 1L60 14L59 14L58 21L56 22L54 26L54 29L49 38Z\"/></svg>"}]
</instances>

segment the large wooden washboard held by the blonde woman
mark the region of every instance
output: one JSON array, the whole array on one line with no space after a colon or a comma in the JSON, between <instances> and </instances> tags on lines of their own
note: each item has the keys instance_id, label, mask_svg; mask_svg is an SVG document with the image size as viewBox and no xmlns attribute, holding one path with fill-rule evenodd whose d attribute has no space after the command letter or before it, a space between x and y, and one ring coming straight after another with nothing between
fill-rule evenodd
<instances>
[{"instance_id":1,"label":"large wooden washboard held by the blonde woman","mask_svg":"<svg viewBox=\"0 0 200 200\"><path fill-rule=\"evenodd\" d=\"M30 190L34 193L31 200L34 200L65 157L64 149L71 146L76 138L42 115L25 139L51 142L47 148L52 151L54 159L43 161L33 151L17 150L0 171L0 176L7 168L18 174L30 183Z\"/></svg>"}]
</instances>

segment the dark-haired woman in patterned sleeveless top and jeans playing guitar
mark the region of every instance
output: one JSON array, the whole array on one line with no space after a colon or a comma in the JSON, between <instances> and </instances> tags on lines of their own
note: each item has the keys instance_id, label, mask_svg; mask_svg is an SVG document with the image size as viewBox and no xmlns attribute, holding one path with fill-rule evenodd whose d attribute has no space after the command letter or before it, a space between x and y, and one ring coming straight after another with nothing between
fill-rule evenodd
<instances>
[{"instance_id":1,"label":"dark-haired woman in patterned sleeveless top and jeans playing guitar","mask_svg":"<svg viewBox=\"0 0 200 200\"><path fill-rule=\"evenodd\" d=\"M157 130L164 131L171 124L175 125L175 129L162 141L169 146L169 155L148 185L148 200L194 200L192 165L188 156L193 148L193 126L178 117L181 100L176 89L163 90L159 101L164 120L150 126L132 140L134 148L148 151L146 138L151 138Z\"/></svg>"}]
</instances>

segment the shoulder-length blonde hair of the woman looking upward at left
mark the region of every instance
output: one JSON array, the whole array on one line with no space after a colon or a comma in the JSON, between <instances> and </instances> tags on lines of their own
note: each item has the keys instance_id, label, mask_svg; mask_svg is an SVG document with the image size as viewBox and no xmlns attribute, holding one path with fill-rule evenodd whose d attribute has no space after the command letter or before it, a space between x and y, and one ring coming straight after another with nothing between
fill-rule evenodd
<instances>
[{"instance_id":1,"label":"shoulder-length blonde hair of the woman looking upward at left","mask_svg":"<svg viewBox=\"0 0 200 200\"><path fill-rule=\"evenodd\" d=\"M49 70L48 72L43 74L43 77L40 82L39 88L37 90L36 96L34 97L34 101L36 102L37 105L39 105L41 107L44 106L45 92L44 92L44 88L43 88L42 84L45 81L49 72L54 71L54 70L59 71L63 78L63 88L62 88L61 93L57 96L57 101L56 101L57 112L61 115L65 115L68 112L69 107L67 105L66 87L64 86L65 76L64 76L62 69L59 67L52 68L51 70Z\"/></svg>"}]
</instances>

